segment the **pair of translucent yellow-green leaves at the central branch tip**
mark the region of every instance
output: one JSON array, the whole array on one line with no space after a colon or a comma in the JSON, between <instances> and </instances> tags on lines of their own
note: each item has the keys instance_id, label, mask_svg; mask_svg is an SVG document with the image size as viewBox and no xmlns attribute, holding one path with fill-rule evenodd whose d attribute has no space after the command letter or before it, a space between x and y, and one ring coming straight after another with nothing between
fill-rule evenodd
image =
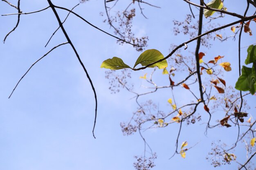
<instances>
[{"instance_id":1,"label":"pair of translucent yellow-green leaves at the central branch tip","mask_svg":"<svg viewBox=\"0 0 256 170\"><path fill-rule=\"evenodd\" d=\"M133 68L135 68L138 64L141 64L142 66L147 66L148 64L157 62L158 60L161 60L163 58L164 58L164 55L162 55L162 53L158 50L155 50L155 49L146 50L143 53L141 53L141 55L139 55ZM157 62L148 67L153 68L156 66L159 69L161 69L161 68L166 68L168 66L168 64L167 64L166 60L163 60L161 62ZM118 57L113 57L111 59L103 61L103 63L101 64L101 68L108 68L111 70L119 70L119 69L123 69L123 68L132 69L130 66L125 64L121 58L118 58Z\"/></svg>"}]
</instances>

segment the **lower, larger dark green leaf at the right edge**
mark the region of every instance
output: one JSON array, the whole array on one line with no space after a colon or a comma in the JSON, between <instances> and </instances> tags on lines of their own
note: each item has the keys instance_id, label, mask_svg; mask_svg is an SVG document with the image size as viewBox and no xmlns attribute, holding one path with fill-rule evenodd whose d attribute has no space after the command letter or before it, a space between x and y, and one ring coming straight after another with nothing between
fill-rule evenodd
<instances>
[{"instance_id":1,"label":"lower, larger dark green leaf at the right edge","mask_svg":"<svg viewBox=\"0 0 256 170\"><path fill-rule=\"evenodd\" d=\"M256 90L255 77L254 66L252 68L243 66L242 75L238 78L235 88L239 91L250 91L253 95Z\"/></svg>"}]
</instances>

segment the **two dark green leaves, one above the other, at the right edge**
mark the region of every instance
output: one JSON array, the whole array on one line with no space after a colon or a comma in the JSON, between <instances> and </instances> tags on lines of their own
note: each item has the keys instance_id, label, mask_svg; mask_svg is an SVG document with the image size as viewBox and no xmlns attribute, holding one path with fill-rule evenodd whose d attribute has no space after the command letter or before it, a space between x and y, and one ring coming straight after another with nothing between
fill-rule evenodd
<instances>
[{"instance_id":1,"label":"two dark green leaves, one above the other, at the right edge","mask_svg":"<svg viewBox=\"0 0 256 170\"><path fill-rule=\"evenodd\" d=\"M243 66L242 75L238 78L235 88L239 91L249 91L253 95L256 91L256 45L249 46L247 52L245 64L253 63L253 66Z\"/></svg>"}]
</instances>

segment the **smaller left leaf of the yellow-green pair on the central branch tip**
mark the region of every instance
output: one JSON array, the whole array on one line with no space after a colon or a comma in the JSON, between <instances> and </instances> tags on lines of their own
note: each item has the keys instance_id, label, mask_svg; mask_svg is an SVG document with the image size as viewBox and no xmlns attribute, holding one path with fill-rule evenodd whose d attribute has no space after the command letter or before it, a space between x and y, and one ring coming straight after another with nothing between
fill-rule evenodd
<instances>
[{"instance_id":1,"label":"smaller left leaf of the yellow-green pair on the central branch tip","mask_svg":"<svg viewBox=\"0 0 256 170\"><path fill-rule=\"evenodd\" d=\"M101 68L109 68L111 70L120 70L123 68L130 68L130 66L126 65L121 58L113 57L112 59L108 59L102 62Z\"/></svg>"}]
</instances>

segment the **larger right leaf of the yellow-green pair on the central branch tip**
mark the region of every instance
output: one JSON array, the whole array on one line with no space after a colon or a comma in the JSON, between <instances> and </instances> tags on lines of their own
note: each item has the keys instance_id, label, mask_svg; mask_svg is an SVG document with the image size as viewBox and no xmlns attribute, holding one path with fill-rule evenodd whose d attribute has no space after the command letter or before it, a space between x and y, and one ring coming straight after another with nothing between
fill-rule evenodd
<instances>
[{"instance_id":1,"label":"larger right leaf of the yellow-green pair on the central branch tip","mask_svg":"<svg viewBox=\"0 0 256 170\"><path fill-rule=\"evenodd\" d=\"M164 58L164 55L162 55L162 53L158 50L155 50L155 49L146 50L143 53L141 53L141 55L137 59L133 68L135 68L135 66L137 66L138 64L141 64L142 66L147 66L148 64L151 64L163 58ZM161 68L166 68L168 64L167 64L167 61L164 60L162 62L158 62L148 67L155 67L155 66L161 69Z\"/></svg>"}]
</instances>

